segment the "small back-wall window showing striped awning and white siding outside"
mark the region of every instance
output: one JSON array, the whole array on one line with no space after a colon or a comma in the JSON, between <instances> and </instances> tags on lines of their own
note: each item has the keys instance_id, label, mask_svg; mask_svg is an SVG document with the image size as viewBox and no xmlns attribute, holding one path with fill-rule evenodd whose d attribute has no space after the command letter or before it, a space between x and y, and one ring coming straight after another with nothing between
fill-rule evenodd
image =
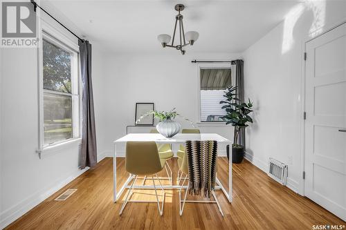
<instances>
[{"instance_id":1,"label":"small back-wall window showing striped awning and white siding outside","mask_svg":"<svg viewBox=\"0 0 346 230\"><path fill-rule=\"evenodd\" d=\"M200 68L200 120L201 122L223 122L226 111L221 108L224 90L231 85L231 68Z\"/></svg>"}]
</instances>

